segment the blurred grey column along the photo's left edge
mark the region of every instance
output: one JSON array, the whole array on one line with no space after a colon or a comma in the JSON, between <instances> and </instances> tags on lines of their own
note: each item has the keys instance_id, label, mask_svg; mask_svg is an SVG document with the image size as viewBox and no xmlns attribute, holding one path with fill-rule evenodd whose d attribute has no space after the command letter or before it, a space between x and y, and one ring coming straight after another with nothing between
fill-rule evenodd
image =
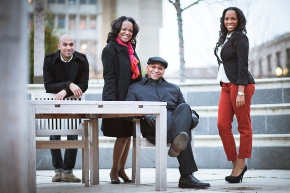
<instances>
[{"instance_id":1,"label":"blurred grey column along the photo's left edge","mask_svg":"<svg viewBox=\"0 0 290 193\"><path fill-rule=\"evenodd\" d=\"M28 193L27 1L0 1L0 191Z\"/></svg>"}]
</instances>

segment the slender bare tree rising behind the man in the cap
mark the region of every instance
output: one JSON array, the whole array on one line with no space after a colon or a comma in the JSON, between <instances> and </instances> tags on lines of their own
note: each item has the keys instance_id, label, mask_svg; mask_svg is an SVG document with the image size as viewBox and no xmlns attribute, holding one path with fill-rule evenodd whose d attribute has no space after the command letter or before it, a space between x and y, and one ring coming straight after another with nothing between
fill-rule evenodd
<instances>
[{"instance_id":1,"label":"slender bare tree rising behind the man in the cap","mask_svg":"<svg viewBox=\"0 0 290 193\"><path fill-rule=\"evenodd\" d=\"M185 60L184 60L184 40L183 40L183 23L182 23L182 12L203 0L197 0L196 2L188 5L185 8L181 8L180 0L171 1L168 0L176 9L177 21L178 21L178 36L179 36L179 55L180 55L180 82L185 82Z\"/></svg>"}]
</instances>

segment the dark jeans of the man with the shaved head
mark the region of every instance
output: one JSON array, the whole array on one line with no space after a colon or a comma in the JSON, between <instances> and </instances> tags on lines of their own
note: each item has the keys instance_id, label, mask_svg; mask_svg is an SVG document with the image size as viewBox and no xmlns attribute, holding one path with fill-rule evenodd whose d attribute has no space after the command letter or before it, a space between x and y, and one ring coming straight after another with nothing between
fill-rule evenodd
<instances>
[{"instance_id":1,"label":"dark jeans of the man with the shaved head","mask_svg":"<svg viewBox=\"0 0 290 193\"><path fill-rule=\"evenodd\" d=\"M68 140L78 140L77 135L67 136ZM61 140L61 136L50 136L49 140ZM64 173L73 172L76 164L78 149L66 149L63 160L61 149L51 149L52 165L54 171L64 170Z\"/></svg>"}]
</instances>

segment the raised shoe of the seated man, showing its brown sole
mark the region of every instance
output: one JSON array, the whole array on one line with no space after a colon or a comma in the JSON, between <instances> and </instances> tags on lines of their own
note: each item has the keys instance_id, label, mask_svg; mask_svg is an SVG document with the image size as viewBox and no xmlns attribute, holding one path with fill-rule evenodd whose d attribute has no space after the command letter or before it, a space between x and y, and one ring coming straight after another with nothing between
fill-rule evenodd
<instances>
[{"instance_id":1,"label":"raised shoe of the seated man, showing its brown sole","mask_svg":"<svg viewBox=\"0 0 290 193\"><path fill-rule=\"evenodd\" d=\"M171 144L168 150L168 156L173 158L179 156L180 152L185 150L187 145L188 145L188 134L186 132L181 132L179 135L176 136L173 143Z\"/></svg>"}]
</instances>

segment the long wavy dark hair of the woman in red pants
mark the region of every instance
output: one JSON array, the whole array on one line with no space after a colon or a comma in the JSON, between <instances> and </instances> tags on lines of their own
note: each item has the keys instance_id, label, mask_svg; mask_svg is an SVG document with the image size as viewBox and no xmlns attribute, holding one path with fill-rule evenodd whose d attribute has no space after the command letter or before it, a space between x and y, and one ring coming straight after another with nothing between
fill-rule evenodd
<instances>
[{"instance_id":1,"label":"long wavy dark hair of the woman in red pants","mask_svg":"<svg viewBox=\"0 0 290 193\"><path fill-rule=\"evenodd\" d=\"M223 10L222 17L219 19L219 21L220 21L219 39L218 39L218 42L216 43L215 48L214 48L215 54L218 50L217 47L221 46L224 43L227 32L228 32L226 27L224 26L224 15L229 10L234 10L237 13L238 26L234 31L235 33L231 34L231 36L228 39L228 41L226 42L225 46L236 45L237 38L240 36L240 34L241 33L247 34L247 30L246 30L247 20L246 20L244 13L239 8L236 8L236 7L226 8L225 10Z\"/></svg>"}]
</instances>

